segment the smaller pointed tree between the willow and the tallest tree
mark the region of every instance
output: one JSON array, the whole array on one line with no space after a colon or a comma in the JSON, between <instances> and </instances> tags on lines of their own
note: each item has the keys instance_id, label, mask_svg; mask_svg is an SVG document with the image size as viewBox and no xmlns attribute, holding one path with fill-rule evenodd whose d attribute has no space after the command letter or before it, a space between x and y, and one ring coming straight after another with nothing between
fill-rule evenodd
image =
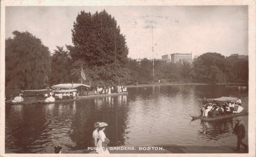
<instances>
[{"instance_id":1,"label":"smaller pointed tree between the willow and the tallest tree","mask_svg":"<svg viewBox=\"0 0 256 157\"><path fill-rule=\"evenodd\" d=\"M56 48L52 55L52 74L49 77L49 82L51 84L70 83L72 82L70 75L72 60L68 55L68 51L63 50L63 46L56 46Z\"/></svg>"}]
</instances>

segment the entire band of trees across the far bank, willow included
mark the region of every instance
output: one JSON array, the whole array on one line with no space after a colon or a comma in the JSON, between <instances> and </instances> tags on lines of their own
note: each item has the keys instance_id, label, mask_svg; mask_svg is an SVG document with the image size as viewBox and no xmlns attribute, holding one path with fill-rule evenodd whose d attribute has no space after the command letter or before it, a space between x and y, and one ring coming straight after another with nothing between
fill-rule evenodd
<instances>
[{"instance_id":1,"label":"entire band of trees across the far bank, willow included","mask_svg":"<svg viewBox=\"0 0 256 157\"><path fill-rule=\"evenodd\" d=\"M128 59L125 36L105 10L81 11L72 29L74 46L56 46L52 57L48 47L29 32L12 32L5 40L5 82L21 89L40 89L47 83L80 83L81 67L86 80L95 86L135 82L237 82L248 81L248 60L228 61L220 53L204 53L192 64L146 58ZM52 72L52 73L51 73ZM49 77L49 79L48 79Z\"/></svg>"}]
</instances>

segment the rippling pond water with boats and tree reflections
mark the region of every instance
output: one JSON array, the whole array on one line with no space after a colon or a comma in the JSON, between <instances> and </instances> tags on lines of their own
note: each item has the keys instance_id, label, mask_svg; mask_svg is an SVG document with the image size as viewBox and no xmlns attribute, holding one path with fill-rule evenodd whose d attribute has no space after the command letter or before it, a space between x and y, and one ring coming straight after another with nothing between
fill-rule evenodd
<instances>
[{"instance_id":1,"label":"rippling pond water with boats and tree reflections","mask_svg":"<svg viewBox=\"0 0 256 157\"><path fill-rule=\"evenodd\" d=\"M146 88L146 89L145 89ZM128 95L45 105L5 105L5 150L54 153L91 146L93 124L106 122L108 146L230 145L237 117L191 121L200 114L197 98L238 97L248 112L248 90L225 85L170 85L128 88ZM248 116L239 117L248 143Z\"/></svg>"}]
</instances>

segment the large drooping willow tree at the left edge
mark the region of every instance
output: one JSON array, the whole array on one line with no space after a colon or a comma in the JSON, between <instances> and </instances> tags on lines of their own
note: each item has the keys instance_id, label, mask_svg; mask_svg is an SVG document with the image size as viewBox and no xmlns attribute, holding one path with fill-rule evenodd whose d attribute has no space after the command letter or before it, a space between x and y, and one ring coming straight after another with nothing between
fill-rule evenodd
<instances>
[{"instance_id":1,"label":"large drooping willow tree at the left edge","mask_svg":"<svg viewBox=\"0 0 256 157\"><path fill-rule=\"evenodd\" d=\"M51 58L48 47L28 31L12 32L5 40L5 82L20 89L40 89L48 83Z\"/></svg>"}]
</instances>

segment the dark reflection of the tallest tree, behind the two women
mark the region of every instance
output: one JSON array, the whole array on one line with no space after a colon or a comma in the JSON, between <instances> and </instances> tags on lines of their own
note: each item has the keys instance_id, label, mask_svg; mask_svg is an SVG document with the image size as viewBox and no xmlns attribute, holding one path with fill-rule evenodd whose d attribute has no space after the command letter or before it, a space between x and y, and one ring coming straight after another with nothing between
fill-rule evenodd
<instances>
[{"instance_id":1,"label":"dark reflection of the tallest tree, behind the two women","mask_svg":"<svg viewBox=\"0 0 256 157\"><path fill-rule=\"evenodd\" d=\"M129 123L127 96L118 95L81 102L76 104L76 114L73 115L71 122L73 131L69 133L76 146L70 145L69 150L86 149L91 146L95 122L108 123L104 132L110 140L109 146L124 145L124 130Z\"/></svg>"}]
</instances>

